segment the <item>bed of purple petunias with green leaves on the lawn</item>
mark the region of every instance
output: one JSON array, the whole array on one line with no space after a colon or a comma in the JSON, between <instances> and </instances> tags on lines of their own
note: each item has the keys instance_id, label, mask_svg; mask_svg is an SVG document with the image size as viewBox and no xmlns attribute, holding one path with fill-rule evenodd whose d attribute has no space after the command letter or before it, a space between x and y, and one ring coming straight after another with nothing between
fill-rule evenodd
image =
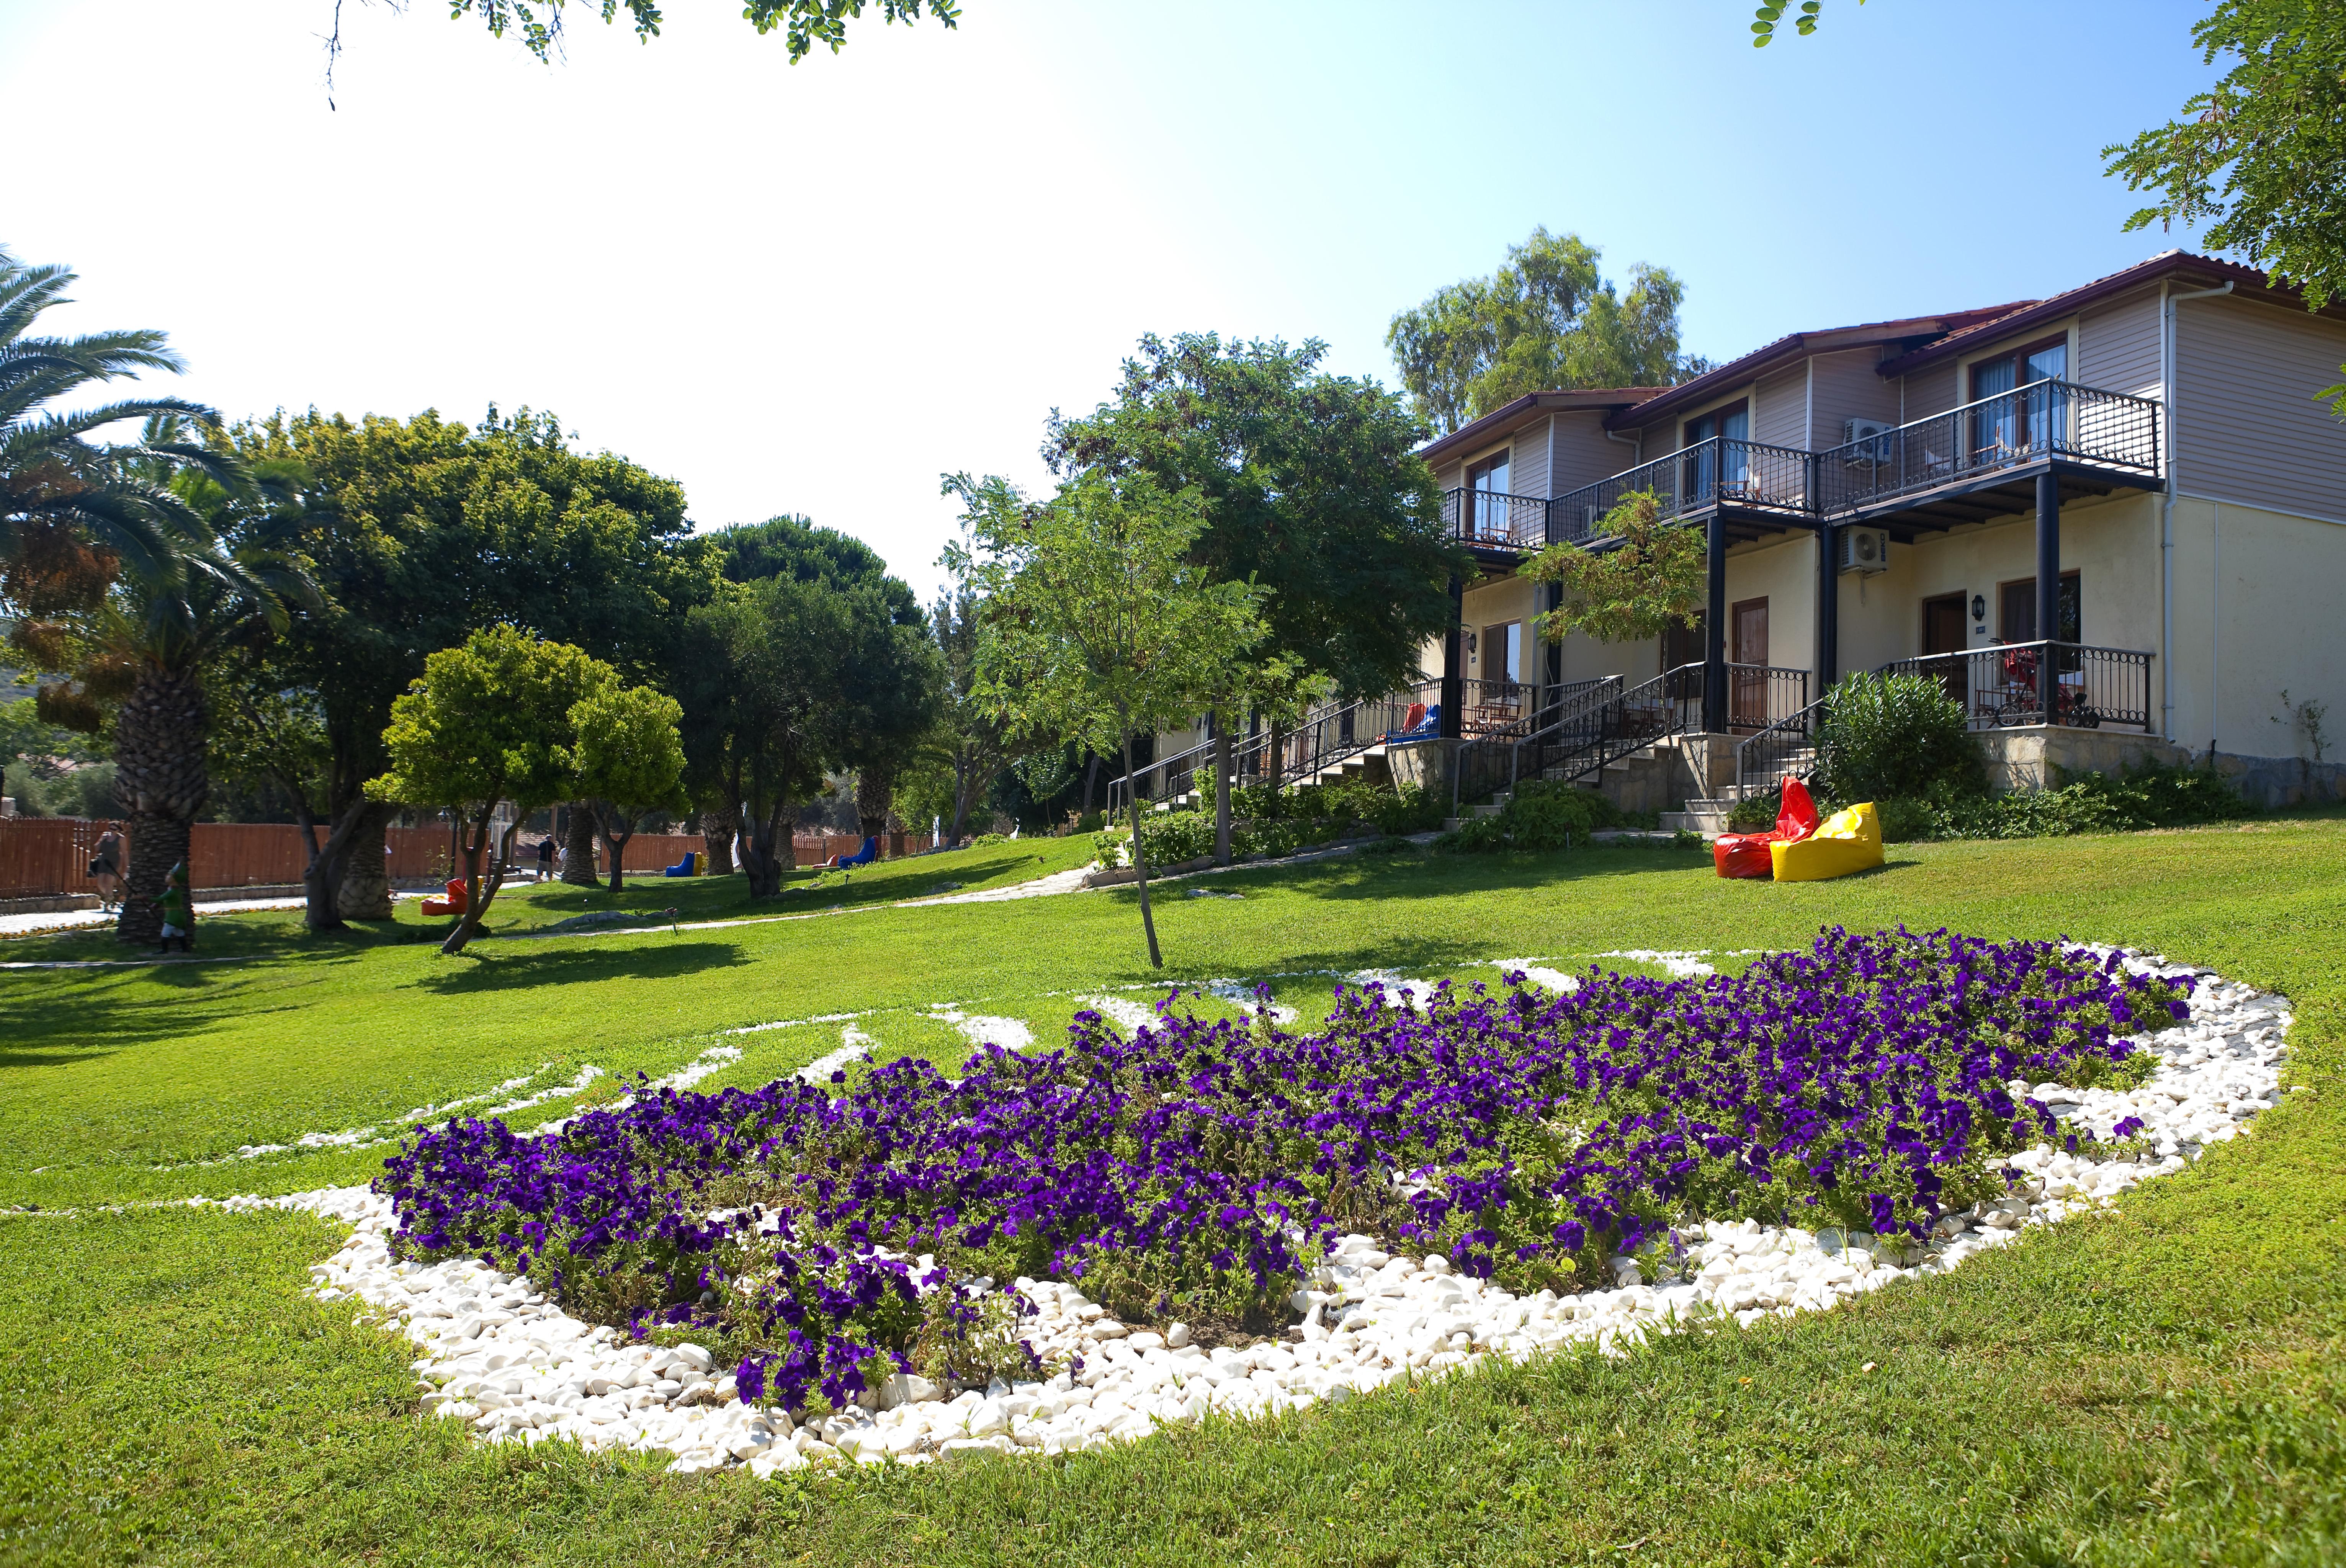
<instances>
[{"instance_id":1,"label":"bed of purple petunias with green leaves on the lawn","mask_svg":"<svg viewBox=\"0 0 2346 1568\"><path fill-rule=\"evenodd\" d=\"M2121 1036L2184 1017L2186 984L1945 930L1825 930L1738 977L1508 982L1426 1010L1340 989L1316 1034L1168 998L1131 1041L1084 1013L1065 1048L983 1048L960 1080L903 1059L544 1137L448 1123L378 1188L404 1254L692 1324L741 1355L744 1397L845 1402L882 1364L1016 1357L1002 1308L957 1289L981 1275L1227 1331L1281 1320L1344 1230L1525 1291L1600 1280L1682 1219L1919 1238L2055 1132L2011 1078L2109 1076Z\"/></svg>"}]
</instances>

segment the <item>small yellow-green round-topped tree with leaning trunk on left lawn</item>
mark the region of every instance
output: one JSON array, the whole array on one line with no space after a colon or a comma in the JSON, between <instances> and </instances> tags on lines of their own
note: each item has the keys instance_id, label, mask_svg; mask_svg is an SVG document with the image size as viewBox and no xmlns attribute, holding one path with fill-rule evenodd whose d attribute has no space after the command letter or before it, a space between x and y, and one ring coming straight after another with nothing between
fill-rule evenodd
<instances>
[{"instance_id":1,"label":"small yellow-green round-topped tree with leaning trunk on left lawn","mask_svg":"<svg viewBox=\"0 0 2346 1568\"><path fill-rule=\"evenodd\" d=\"M568 642L542 642L511 626L476 630L462 647L425 659L425 673L392 703L382 731L389 771L371 778L378 802L441 806L457 816L465 855L465 914L441 942L460 954L481 933L488 905L511 870L514 830L533 811L577 790L577 731L570 715L619 684L619 673ZM514 827L493 841L497 806ZM486 867L483 855L495 851Z\"/></svg>"}]
</instances>

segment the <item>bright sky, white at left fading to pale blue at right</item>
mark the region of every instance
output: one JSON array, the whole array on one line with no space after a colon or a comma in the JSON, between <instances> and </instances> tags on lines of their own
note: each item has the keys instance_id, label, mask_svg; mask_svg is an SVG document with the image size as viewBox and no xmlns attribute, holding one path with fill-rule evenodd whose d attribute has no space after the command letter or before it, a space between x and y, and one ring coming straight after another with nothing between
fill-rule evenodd
<instances>
[{"instance_id":1,"label":"bright sky, white at left fading to pale blue at right","mask_svg":"<svg viewBox=\"0 0 2346 1568\"><path fill-rule=\"evenodd\" d=\"M171 391L554 410L699 527L805 513L927 598L943 473L1044 490L1143 333L1384 328L1534 225L1673 267L1684 347L2046 295L2123 234L2097 150L2212 80L2208 0L964 0L791 66L737 0L542 66L443 0L0 0L0 246ZM42 148L42 143L49 143ZM30 178L30 169L54 169Z\"/></svg>"}]
</instances>

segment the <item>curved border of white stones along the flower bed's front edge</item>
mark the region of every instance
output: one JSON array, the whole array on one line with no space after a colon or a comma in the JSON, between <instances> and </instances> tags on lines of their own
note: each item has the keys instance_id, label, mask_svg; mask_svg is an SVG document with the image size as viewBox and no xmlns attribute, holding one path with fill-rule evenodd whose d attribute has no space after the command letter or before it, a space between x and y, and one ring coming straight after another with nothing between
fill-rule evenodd
<instances>
[{"instance_id":1,"label":"curved border of white stones along the flower bed's front edge","mask_svg":"<svg viewBox=\"0 0 2346 1568\"><path fill-rule=\"evenodd\" d=\"M2165 970L2158 959L2140 966L2186 973ZM1830 1310L1898 1280L1945 1273L2238 1137L2278 1102L2287 1024L2283 998L2201 975L2191 1020L2144 1041L2158 1069L2142 1088L2081 1092L2015 1083L2102 1139L2116 1120L2142 1118L2147 1153L2097 1163L2043 1144L2013 1160L2022 1179L2011 1195L1945 1216L1921 1247L1710 1223L1680 1233L1687 1242L1680 1275L1649 1282L1635 1261L1621 1259L1614 1289L1513 1296L1459 1277L1438 1254L1389 1256L1375 1240L1351 1235L1290 1298L1297 1313L1290 1341L1213 1350L1189 1343L1182 1324L1164 1331L1121 1324L1072 1284L1018 1280L1011 1289L1037 1305L1025 1320L1028 1341L1053 1376L983 1390L896 1376L866 1395L870 1409L805 1427L784 1411L739 1404L725 1369L697 1345L622 1343L612 1329L563 1315L526 1280L479 1261L394 1263L385 1245L389 1202L364 1188L230 1198L225 1207L303 1209L350 1223L343 1249L310 1270L312 1291L359 1305L354 1322L404 1334L420 1352L413 1366L422 1411L467 1423L481 1441L563 1437L586 1448L669 1453L680 1472L746 1465L760 1477L821 1460L929 1463L976 1448L1063 1453L1147 1437L1161 1423L1215 1409L1260 1416L1342 1402L1405 1378L1466 1371L1487 1357L1523 1362L1579 1343L1623 1355L1654 1334Z\"/></svg>"}]
</instances>

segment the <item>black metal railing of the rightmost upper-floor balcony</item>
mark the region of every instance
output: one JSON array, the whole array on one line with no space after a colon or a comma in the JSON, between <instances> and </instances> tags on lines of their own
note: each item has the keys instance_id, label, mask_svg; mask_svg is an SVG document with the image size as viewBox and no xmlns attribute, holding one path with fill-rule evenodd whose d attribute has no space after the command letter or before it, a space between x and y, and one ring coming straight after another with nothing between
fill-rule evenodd
<instances>
[{"instance_id":1,"label":"black metal railing of the rightmost upper-floor balcony","mask_svg":"<svg viewBox=\"0 0 2346 1568\"><path fill-rule=\"evenodd\" d=\"M2076 382L2034 382L1816 455L1816 509L1865 511L1957 480L2072 457L2158 476L2158 403Z\"/></svg>"}]
</instances>

